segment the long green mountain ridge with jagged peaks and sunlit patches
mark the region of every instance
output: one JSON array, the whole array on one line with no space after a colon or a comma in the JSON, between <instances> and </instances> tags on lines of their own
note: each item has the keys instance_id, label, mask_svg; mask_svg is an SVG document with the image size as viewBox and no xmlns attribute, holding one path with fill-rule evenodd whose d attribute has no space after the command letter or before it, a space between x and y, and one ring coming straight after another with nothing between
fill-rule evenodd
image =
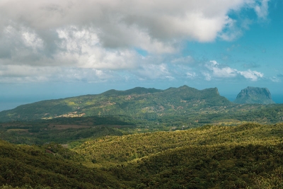
<instances>
[{"instance_id":1,"label":"long green mountain ridge with jagged peaks and sunlit patches","mask_svg":"<svg viewBox=\"0 0 283 189\"><path fill-rule=\"evenodd\" d=\"M197 90L188 86L158 90L132 88L98 95L78 96L20 105L0 113L0 121L70 118L92 115L129 115L154 119L162 115L190 113L202 108L231 105L217 88Z\"/></svg>"}]
</instances>

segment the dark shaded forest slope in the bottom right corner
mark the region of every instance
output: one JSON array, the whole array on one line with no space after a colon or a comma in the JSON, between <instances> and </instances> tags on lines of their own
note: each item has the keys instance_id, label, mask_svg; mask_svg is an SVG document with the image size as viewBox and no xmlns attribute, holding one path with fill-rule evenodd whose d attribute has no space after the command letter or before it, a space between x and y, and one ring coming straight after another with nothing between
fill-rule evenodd
<instances>
[{"instance_id":1,"label":"dark shaded forest slope in the bottom right corner","mask_svg":"<svg viewBox=\"0 0 283 189\"><path fill-rule=\"evenodd\" d=\"M182 147L115 171L137 181L133 188L283 188L282 150L279 144Z\"/></svg>"}]
</instances>

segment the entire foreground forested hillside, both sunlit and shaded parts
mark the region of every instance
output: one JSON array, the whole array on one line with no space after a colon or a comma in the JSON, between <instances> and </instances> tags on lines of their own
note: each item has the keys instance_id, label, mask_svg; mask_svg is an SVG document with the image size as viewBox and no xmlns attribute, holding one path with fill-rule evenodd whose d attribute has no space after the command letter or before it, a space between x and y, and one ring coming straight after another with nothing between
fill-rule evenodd
<instances>
[{"instance_id":1,"label":"entire foreground forested hillside, both sunlit and shaded parts","mask_svg":"<svg viewBox=\"0 0 283 189\"><path fill-rule=\"evenodd\" d=\"M13 187L283 187L283 124L108 136L75 149L0 145L0 185Z\"/></svg>"}]
</instances>

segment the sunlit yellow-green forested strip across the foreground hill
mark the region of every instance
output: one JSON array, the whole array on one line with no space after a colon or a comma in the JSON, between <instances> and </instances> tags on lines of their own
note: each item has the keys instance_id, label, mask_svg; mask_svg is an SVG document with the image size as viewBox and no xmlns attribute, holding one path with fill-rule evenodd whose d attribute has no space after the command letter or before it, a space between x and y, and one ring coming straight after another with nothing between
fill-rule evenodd
<instances>
[{"instance_id":1,"label":"sunlit yellow-green forested strip across the foreground hill","mask_svg":"<svg viewBox=\"0 0 283 189\"><path fill-rule=\"evenodd\" d=\"M282 124L248 123L237 127L204 126L183 131L130 134L96 139L83 143L74 151L83 154L86 159L96 159L98 162L124 162L178 147L194 145L216 147L222 144L235 147L246 144L269 144L270 142L273 144L272 140L282 140L282 137Z\"/></svg>"}]
</instances>

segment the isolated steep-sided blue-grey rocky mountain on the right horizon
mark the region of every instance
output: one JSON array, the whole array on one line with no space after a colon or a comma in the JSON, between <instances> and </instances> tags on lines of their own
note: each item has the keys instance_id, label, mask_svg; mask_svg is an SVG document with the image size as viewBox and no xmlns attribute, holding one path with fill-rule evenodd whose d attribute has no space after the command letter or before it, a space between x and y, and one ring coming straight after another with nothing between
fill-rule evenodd
<instances>
[{"instance_id":1,"label":"isolated steep-sided blue-grey rocky mountain on the right horizon","mask_svg":"<svg viewBox=\"0 0 283 189\"><path fill-rule=\"evenodd\" d=\"M270 104L275 103L272 101L271 93L268 88L259 88L248 86L244 88L238 96L234 103L260 103L260 104Z\"/></svg>"}]
</instances>

